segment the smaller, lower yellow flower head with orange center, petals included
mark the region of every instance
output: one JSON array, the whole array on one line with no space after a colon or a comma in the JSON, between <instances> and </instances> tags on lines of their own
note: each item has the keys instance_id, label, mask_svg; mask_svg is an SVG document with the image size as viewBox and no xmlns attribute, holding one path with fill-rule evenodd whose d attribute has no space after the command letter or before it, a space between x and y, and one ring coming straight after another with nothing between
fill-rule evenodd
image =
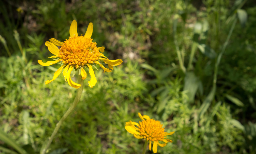
<instances>
[{"instance_id":1,"label":"smaller, lower yellow flower head with orange center, petals included","mask_svg":"<svg viewBox=\"0 0 256 154\"><path fill-rule=\"evenodd\" d=\"M160 121L150 119L147 115L141 115L138 113L141 118L140 124L136 122L126 122L125 129L127 132L133 134L133 136L137 139L146 139L149 141L149 150L151 150L151 144L153 142L153 152L157 152L157 145L160 147L166 146L166 143L173 142L170 139L166 139L166 135L172 135L174 132L164 132L164 128L162 128L162 124ZM137 127L136 127L137 126ZM159 143L159 141L163 141L164 143Z\"/></svg>"}]
</instances>

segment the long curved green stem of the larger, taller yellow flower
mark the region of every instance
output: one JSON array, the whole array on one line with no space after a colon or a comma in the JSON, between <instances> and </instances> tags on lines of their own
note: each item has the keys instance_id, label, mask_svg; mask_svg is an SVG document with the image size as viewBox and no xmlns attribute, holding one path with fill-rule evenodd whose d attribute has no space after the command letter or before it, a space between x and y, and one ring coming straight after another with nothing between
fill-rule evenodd
<instances>
[{"instance_id":1,"label":"long curved green stem of the larger, taller yellow flower","mask_svg":"<svg viewBox=\"0 0 256 154\"><path fill-rule=\"evenodd\" d=\"M74 102L73 104L69 107L69 109L66 111L66 113L61 117L60 121L57 123L53 133L51 134L51 137L49 138L48 142L46 142L41 150L40 150L40 154L45 154L47 149L49 148L52 140L54 139L55 135L57 134L61 124L63 123L63 121L66 119L66 117L74 110L74 108L77 106L77 103L79 102L80 98L81 98L81 95L82 95L82 91L83 91L83 79L82 79L82 76L79 75L78 76L78 84L81 84L81 87L78 88L78 91L77 91L77 96L76 98L74 99Z\"/></svg>"}]
</instances>

